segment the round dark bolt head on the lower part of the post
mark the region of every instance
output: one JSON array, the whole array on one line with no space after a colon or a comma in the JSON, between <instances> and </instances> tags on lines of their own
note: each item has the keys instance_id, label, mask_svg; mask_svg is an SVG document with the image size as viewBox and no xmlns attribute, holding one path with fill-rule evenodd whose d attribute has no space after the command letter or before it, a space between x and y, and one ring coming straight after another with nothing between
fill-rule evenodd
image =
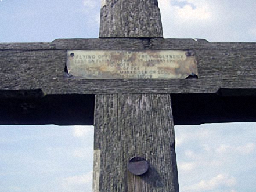
<instances>
[{"instance_id":1,"label":"round dark bolt head on the lower part of the post","mask_svg":"<svg viewBox=\"0 0 256 192\"><path fill-rule=\"evenodd\" d=\"M128 162L128 170L134 175L144 175L149 171L149 163L142 157L133 157Z\"/></svg>"}]
</instances>

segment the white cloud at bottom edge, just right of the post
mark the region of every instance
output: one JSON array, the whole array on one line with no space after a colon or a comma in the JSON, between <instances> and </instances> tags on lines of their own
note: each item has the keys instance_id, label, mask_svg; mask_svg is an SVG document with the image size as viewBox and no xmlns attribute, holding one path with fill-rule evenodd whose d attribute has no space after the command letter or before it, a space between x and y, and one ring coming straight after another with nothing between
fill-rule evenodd
<instances>
[{"instance_id":1,"label":"white cloud at bottom edge, just right of the post","mask_svg":"<svg viewBox=\"0 0 256 192\"><path fill-rule=\"evenodd\" d=\"M210 180L201 180L197 184L184 187L184 191L211 191L217 190L220 187L233 187L236 184L235 177L230 177L228 174L219 174Z\"/></svg>"}]
</instances>

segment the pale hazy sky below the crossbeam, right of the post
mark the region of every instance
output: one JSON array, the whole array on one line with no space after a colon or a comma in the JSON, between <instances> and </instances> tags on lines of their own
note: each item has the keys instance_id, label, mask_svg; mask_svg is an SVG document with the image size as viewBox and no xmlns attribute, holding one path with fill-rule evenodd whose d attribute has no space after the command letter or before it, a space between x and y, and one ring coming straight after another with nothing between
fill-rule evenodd
<instances>
[{"instance_id":1,"label":"pale hazy sky below the crossbeam, right of the post","mask_svg":"<svg viewBox=\"0 0 256 192\"><path fill-rule=\"evenodd\" d=\"M254 178L253 170L256 170L255 164L251 163L256 155L255 126L255 123L175 126L181 191L207 191L199 190L200 186L218 180L215 177L221 170L226 173L222 175L235 177L239 187L253 192L248 184L253 179L248 178ZM245 182L245 178L248 182ZM188 190L188 187L194 190ZM239 187L222 184L211 192L236 192Z\"/></svg>"}]
</instances>

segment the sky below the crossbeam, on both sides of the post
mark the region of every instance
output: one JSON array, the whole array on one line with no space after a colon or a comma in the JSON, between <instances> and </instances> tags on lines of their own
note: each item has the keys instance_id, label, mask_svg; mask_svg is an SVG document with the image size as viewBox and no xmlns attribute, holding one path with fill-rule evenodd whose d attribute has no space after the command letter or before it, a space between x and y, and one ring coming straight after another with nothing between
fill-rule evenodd
<instances>
[{"instance_id":1,"label":"sky below the crossbeam, on both sides of the post","mask_svg":"<svg viewBox=\"0 0 256 192\"><path fill-rule=\"evenodd\" d=\"M254 192L256 123L175 126L181 192ZM0 191L92 191L93 126L0 126Z\"/></svg>"}]
</instances>

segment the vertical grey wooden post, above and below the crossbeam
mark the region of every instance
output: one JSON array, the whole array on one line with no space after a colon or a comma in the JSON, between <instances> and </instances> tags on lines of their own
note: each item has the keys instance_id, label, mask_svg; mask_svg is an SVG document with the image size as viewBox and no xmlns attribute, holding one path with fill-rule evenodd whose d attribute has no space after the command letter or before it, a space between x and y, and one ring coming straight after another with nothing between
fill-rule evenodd
<instances>
[{"instance_id":1,"label":"vertical grey wooden post, above and below the crossbeam","mask_svg":"<svg viewBox=\"0 0 256 192\"><path fill-rule=\"evenodd\" d=\"M163 37L157 1L103 1L100 37ZM94 192L179 191L170 95L96 95L94 126ZM127 169L135 156L143 176Z\"/></svg>"}]
</instances>

